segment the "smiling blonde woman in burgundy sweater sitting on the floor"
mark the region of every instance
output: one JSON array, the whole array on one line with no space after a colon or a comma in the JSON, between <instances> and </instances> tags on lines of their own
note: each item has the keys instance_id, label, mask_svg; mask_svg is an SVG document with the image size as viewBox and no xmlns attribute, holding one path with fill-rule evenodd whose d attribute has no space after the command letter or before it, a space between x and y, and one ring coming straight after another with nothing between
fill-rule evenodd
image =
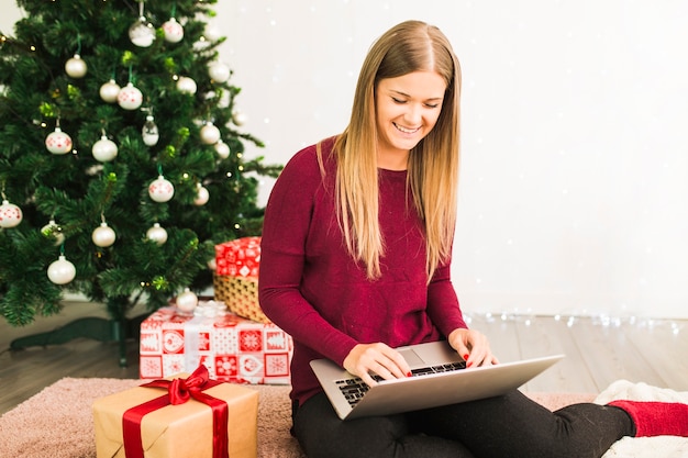
<instances>
[{"instance_id":1,"label":"smiling blonde woman in burgundy sweater sitting on the floor","mask_svg":"<svg viewBox=\"0 0 688 458\"><path fill-rule=\"evenodd\" d=\"M683 404L578 404L552 413L519 391L342 422L309 361L373 386L408 377L396 347L447 339L498 364L450 279L460 69L434 26L403 22L366 57L351 122L299 152L268 201L259 300L295 339L293 434L313 457L598 457L630 435L688 434ZM683 418L683 420L677 420ZM672 428L672 424L675 426Z\"/></svg>"}]
</instances>

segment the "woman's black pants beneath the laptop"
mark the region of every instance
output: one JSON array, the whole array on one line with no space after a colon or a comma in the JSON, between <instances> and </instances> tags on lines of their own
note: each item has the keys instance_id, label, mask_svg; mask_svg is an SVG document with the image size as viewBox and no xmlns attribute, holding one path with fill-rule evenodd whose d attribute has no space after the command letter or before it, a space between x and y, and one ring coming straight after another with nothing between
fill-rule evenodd
<instances>
[{"instance_id":1,"label":"woman's black pants beneath the laptop","mask_svg":"<svg viewBox=\"0 0 688 458\"><path fill-rule=\"evenodd\" d=\"M621 409L550 412L520 391L406 414L342 422L324 393L295 410L309 458L597 458L635 426Z\"/></svg>"}]
</instances>

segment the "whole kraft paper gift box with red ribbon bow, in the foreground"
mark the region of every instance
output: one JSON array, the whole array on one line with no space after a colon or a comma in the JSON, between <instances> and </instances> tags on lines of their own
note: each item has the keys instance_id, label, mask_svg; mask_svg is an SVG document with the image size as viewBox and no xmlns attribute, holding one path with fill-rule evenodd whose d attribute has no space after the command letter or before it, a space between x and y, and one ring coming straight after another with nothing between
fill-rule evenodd
<instances>
[{"instance_id":1,"label":"whole kraft paper gift box with red ribbon bow, in the foreground","mask_svg":"<svg viewBox=\"0 0 688 458\"><path fill-rule=\"evenodd\" d=\"M255 458L258 392L191 376L93 402L97 458Z\"/></svg>"}]
</instances>

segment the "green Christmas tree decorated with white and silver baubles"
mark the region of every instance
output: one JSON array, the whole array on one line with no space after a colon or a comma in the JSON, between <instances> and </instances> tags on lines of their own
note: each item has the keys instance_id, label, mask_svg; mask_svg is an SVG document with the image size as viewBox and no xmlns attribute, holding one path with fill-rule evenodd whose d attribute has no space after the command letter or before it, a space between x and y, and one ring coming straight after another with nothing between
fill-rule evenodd
<instances>
[{"instance_id":1,"label":"green Christmas tree decorated with white and silver baubles","mask_svg":"<svg viewBox=\"0 0 688 458\"><path fill-rule=\"evenodd\" d=\"M240 89L210 33L217 0L19 0L0 31L0 314L65 291L125 320L212 283L214 245L259 235Z\"/></svg>"}]
</instances>

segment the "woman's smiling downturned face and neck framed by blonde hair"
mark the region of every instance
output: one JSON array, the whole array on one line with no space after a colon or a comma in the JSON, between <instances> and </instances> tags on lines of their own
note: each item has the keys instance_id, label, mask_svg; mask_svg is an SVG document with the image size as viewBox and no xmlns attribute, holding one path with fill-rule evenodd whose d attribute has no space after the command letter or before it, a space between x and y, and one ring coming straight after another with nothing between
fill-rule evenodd
<instances>
[{"instance_id":1,"label":"woman's smiling downturned face and neck framed by blonde hair","mask_svg":"<svg viewBox=\"0 0 688 458\"><path fill-rule=\"evenodd\" d=\"M406 170L409 152L432 131L446 83L434 71L379 80L375 90L378 167Z\"/></svg>"}]
</instances>

